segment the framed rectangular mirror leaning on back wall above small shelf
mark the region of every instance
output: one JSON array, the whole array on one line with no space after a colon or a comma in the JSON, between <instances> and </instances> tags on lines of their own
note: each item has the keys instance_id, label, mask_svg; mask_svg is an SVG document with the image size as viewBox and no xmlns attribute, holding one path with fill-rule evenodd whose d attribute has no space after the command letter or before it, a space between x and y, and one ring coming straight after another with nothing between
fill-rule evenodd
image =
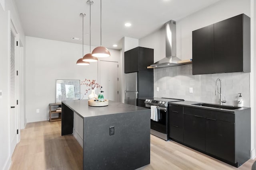
<instances>
[{"instance_id":1,"label":"framed rectangular mirror leaning on back wall above small shelf","mask_svg":"<svg viewBox=\"0 0 256 170\"><path fill-rule=\"evenodd\" d=\"M55 102L80 99L80 80L56 80Z\"/></svg>"}]
</instances>

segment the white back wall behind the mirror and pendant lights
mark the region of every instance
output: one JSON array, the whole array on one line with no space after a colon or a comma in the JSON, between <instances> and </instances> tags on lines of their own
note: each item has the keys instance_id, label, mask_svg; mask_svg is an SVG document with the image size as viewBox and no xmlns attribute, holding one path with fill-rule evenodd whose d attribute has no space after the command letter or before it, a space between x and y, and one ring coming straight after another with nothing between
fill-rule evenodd
<instances>
[{"instance_id":1,"label":"white back wall behind the mirror and pendant lights","mask_svg":"<svg viewBox=\"0 0 256 170\"><path fill-rule=\"evenodd\" d=\"M92 47L93 49L94 47ZM111 57L104 61L120 62L120 52L109 49ZM89 46L84 45L84 54ZM94 79L98 82L98 63L78 66L82 45L49 39L26 37L26 119L27 122L49 119L48 105L55 102L56 79ZM86 86L81 86L85 93ZM89 94L89 93L88 93ZM88 98L88 94L84 99ZM36 113L40 109L40 113Z\"/></svg>"}]
</instances>

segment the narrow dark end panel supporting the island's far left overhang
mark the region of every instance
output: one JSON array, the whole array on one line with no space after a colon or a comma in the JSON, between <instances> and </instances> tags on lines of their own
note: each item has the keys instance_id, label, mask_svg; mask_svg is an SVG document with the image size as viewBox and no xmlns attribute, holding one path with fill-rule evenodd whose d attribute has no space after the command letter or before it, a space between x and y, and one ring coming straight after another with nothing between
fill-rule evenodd
<instances>
[{"instance_id":1,"label":"narrow dark end panel supporting the island's far left overhang","mask_svg":"<svg viewBox=\"0 0 256 170\"><path fill-rule=\"evenodd\" d=\"M74 126L74 112L64 103L61 104L61 109L61 135L71 135Z\"/></svg>"}]
</instances>

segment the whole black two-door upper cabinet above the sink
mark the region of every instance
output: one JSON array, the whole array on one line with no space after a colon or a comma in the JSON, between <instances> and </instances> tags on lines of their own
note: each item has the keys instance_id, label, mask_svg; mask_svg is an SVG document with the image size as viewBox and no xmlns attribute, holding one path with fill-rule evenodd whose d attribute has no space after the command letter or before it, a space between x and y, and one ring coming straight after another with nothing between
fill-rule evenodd
<instances>
[{"instance_id":1,"label":"whole black two-door upper cabinet above the sink","mask_svg":"<svg viewBox=\"0 0 256 170\"><path fill-rule=\"evenodd\" d=\"M192 31L193 74L250 72L250 18L245 14Z\"/></svg>"}]
</instances>

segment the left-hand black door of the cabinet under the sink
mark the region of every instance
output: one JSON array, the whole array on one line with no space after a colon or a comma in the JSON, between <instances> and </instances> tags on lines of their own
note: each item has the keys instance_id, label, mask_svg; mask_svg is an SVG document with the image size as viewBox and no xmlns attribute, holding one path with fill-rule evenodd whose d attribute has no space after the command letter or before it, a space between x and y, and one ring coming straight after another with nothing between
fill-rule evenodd
<instances>
[{"instance_id":1,"label":"left-hand black door of the cabinet under the sink","mask_svg":"<svg viewBox=\"0 0 256 170\"><path fill-rule=\"evenodd\" d=\"M184 114L184 143L205 151L205 118Z\"/></svg>"}]
</instances>

